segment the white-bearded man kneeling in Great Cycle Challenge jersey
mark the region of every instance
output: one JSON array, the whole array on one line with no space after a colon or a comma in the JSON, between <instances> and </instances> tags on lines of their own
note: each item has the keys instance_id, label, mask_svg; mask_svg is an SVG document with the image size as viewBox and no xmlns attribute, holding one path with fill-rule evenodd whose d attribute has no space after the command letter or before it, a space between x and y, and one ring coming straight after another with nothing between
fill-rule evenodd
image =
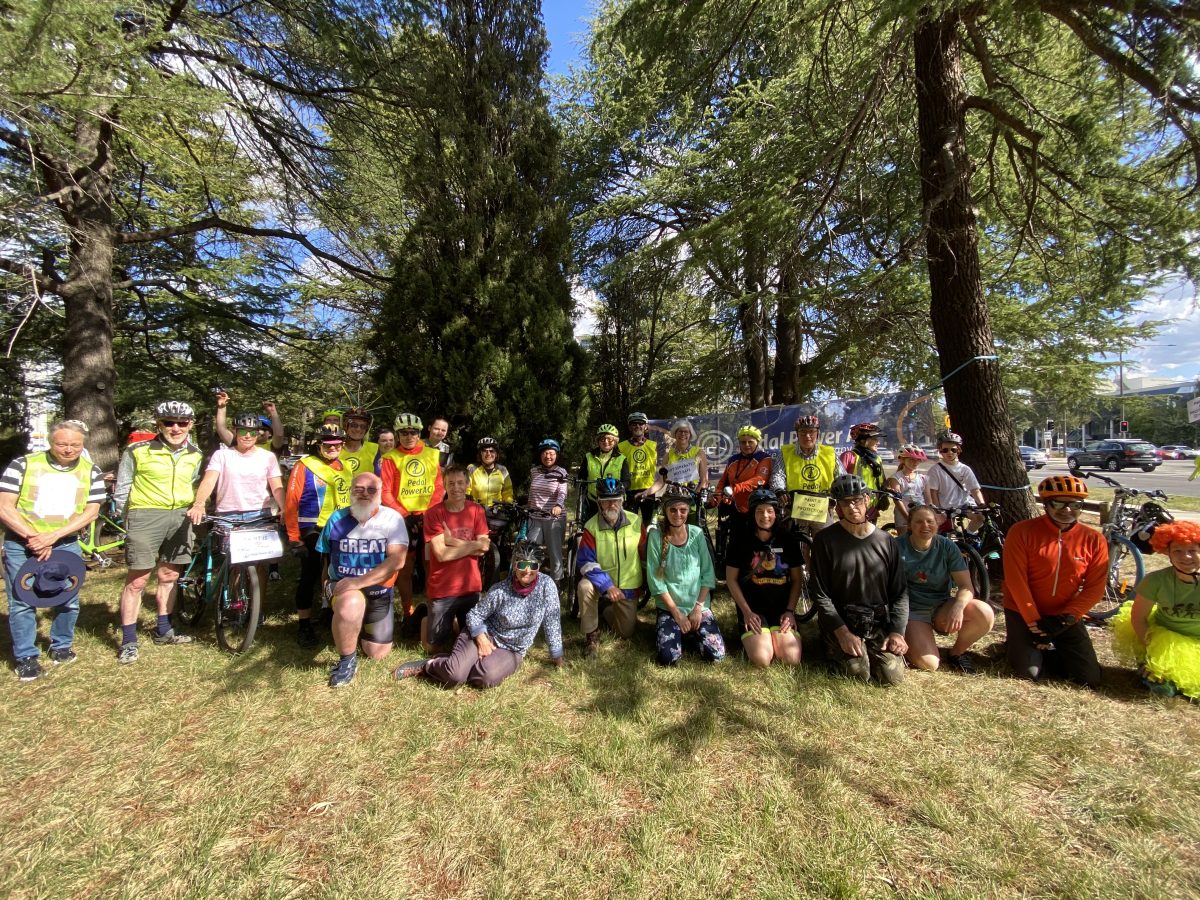
<instances>
[{"instance_id":1,"label":"white-bearded man kneeling in Great Cycle Challenge jersey","mask_svg":"<svg viewBox=\"0 0 1200 900\"><path fill-rule=\"evenodd\" d=\"M317 539L317 552L329 553L334 646L341 655L329 674L330 688L354 680L360 638L371 659L391 652L392 584L408 552L408 529L396 510L382 505L382 491L378 475L356 475L350 505L331 515Z\"/></svg>"}]
</instances>

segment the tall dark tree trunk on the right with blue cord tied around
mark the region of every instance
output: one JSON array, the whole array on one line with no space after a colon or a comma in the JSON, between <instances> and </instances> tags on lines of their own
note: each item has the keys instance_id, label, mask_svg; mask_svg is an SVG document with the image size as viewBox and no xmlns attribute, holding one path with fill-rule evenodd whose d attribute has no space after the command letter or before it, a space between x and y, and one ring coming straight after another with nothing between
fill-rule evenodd
<instances>
[{"instance_id":1,"label":"tall dark tree trunk on the right with blue cord tied around","mask_svg":"<svg viewBox=\"0 0 1200 900\"><path fill-rule=\"evenodd\" d=\"M996 348L979 278L958 25L958 14L950 11L923 20L913 37L930 318L942 377L948 379L946 406L954 430L964 437L964 462L980 484L1019 487L1028 479L1016 452L1000 366L995 360L972 361ZM1006 527L1036 514L1027 491L984 493L1002 504Z\"/></svg>"}]
</instances>

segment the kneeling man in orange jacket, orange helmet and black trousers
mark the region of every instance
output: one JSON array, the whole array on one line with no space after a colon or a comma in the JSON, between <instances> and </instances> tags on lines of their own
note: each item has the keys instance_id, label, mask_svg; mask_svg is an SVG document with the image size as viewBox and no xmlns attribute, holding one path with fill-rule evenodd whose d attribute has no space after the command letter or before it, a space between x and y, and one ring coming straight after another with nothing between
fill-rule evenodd
<instances>
[{"instance_id":1,"label":"kneeling man in orange jacket, orange helmet and black trousers","mask_svg":"<svg viewBox=\"0 0 1200 900\"><path fill-rule=\"evenodd\" d=\"M1051 475L1038 485L1045 515L1018 522L1004 541L1004 629L1018 678L1057 676L1100 685L1084 617L1104 595L1109 548L1079 522L1087 485Z\"/></svg>"}]
</instances>

